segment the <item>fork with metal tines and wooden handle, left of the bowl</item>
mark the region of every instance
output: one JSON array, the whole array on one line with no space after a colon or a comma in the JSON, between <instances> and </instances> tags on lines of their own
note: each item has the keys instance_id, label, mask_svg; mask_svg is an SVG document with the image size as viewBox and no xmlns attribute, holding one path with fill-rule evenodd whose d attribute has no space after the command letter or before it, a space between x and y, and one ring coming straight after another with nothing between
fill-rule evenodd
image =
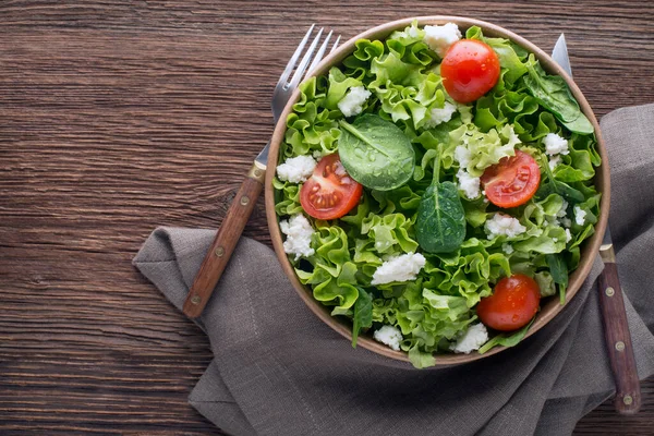
<instances>
[{"instance_id":1,"label":"fork with metal tines and wooden handle, left of the bowl","mask_svg":"<svg viewBox=\"0 0 654 436\"><path fill-rule=\"evenodd\" d=\"M270 104L275 123L277 123L279 116L283 111L289 98L302 78L308 77L311 72L320 62L325 56L325 51L327 51L327 47L329 46L331 37L334 36L334 32L330 31L316 51L316 48L318 47L323 36L324 27L318 29L312 39L314 28L315 24L312 24L308 32L306 32L306 35L304 35L304 38L302 38L302 41L300 41L300 45L295 49L291 60L281 73L279 82L277 82L277 85L275 86L275 90L272 92L272 101ZM310 39L312 39L312 43L304 52L300 63L298 63L298 60L300 59L300 56L302 55L302 51ZM340 36L336 38L336 41L334 43L329 52L336 49L339 41ZM292 77L291 73L293 74ZM214 242L205 255L202 266L199 267L199 270L193 280L193 286L191 287L183 306L184 314L191 318L196 318L202 315L204 307L211 298L214 289L216 288L218 280L220 280L220 276L225 271L225 268L229 263L229 258L231 257L231 254L233 253L237 243L241 238L241 233L245 228L245 223L252 215L256 199L264 187L264 178L266 175L269 148L270 141L268 141L268 144L266 144L264 149L262 149L262 152L255 158L253 166L250 168L250 171L247 171L247 177L241 184L239 192L229 206L227 215L222 220L222 225L218 229L216 239L214 239Z\"/></svg>"}]
</instances>

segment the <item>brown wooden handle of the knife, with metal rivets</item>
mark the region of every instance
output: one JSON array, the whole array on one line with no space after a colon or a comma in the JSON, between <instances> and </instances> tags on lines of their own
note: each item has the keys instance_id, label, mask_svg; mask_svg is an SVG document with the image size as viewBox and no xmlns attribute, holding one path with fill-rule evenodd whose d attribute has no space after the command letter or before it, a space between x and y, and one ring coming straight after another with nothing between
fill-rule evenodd
<instances>
[{"instance_id":1,"label":"brown wooden handle of the knife, with metal rivets","mask_svg":"<svg viewBox=\"0 0 654 436\"><path fill-rule=\"evenodd\" d=\"M615 263L604 264L604 271L600 275L597 284L604 320L604 338L616 382L614 404L619 413L633 414L641 407L641 390L622 289Z\"/></svg>"}]
</instances>

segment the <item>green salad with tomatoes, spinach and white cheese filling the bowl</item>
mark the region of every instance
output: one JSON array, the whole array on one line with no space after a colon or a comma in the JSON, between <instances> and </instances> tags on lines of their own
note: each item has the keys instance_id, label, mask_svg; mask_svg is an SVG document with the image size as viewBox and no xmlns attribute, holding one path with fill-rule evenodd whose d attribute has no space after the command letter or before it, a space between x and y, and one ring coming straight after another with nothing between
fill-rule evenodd
<instances>
[{"instance_id":1,"label":"green salad with tomatoes, spinach and white cheese filling the bowl","mask_svg":"<svg viewBox=\"0 0 654 436\"><path fill-rule=\"evenodd\" d=\"M300 85L274 187L283 247L331 315L408 353L484 353L565 303L594 232L593 125L562 77L480 27L360 39Z\"/></svg>"}]
</instances>

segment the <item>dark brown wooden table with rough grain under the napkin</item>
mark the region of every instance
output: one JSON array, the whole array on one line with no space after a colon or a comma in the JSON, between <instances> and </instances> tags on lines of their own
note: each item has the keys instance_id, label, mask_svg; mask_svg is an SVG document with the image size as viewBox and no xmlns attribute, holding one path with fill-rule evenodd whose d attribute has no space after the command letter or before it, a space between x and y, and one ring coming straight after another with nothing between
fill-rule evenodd
<instances>
[{"instance_id":1,"label":"dark brown wooden table with rough grain under the napkin","mask_svg":"<svg viewBox=\"0 0 654 436\"><path fill-rule=\"evenodd\" d=\"M0 434L220 434L186 403L207 339L130 261L157 226L220 223L311 23L465 14L547 50L565 32L598 116L654 101L651 2L354 3L0 2ZM245 234L269 243L261 201ZM643 396L578 433L652 434L654 378Z\"/></svg>"}]
</instances>

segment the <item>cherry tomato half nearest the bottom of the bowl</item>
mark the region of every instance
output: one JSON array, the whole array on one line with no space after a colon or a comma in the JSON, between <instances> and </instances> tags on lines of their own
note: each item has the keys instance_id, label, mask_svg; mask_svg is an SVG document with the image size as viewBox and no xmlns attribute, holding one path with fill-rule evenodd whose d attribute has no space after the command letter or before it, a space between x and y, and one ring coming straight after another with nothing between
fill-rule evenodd
<instances>
[{"instance_id":1,"label":"cherry tomato half nearest the bottom of the bowl","mask_svg":"<svg viewBox=\"0 0 654 436\"><path fill-rule=\"evenodd\" d=\"M477 304L477 315L486 326L501 331L524 327L538 311L541 291L531 277L514 274L495 284L493 295Z\"/></svg>"}]
</instances>

